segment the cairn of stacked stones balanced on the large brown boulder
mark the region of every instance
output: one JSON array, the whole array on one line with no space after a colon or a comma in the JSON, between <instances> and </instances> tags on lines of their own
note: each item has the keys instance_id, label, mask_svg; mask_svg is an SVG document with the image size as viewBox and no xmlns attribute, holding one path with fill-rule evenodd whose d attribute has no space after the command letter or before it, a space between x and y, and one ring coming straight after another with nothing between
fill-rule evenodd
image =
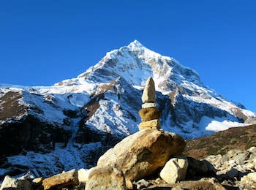
<instances>
[{"instance_id":1,"label":"cairn of stacked stones balanced on the large brown boulder","mask_svg":"<svg viewBox=\"0 0 256 190\"><path fill-rule=\"evenodd\" d=\"M148 77L141 99L143 104L139 111L142 120L139 125L140 130L146 128L159 129L161 112L157 109L156 91L152 77Z\"/></svg>"}]
</instances>

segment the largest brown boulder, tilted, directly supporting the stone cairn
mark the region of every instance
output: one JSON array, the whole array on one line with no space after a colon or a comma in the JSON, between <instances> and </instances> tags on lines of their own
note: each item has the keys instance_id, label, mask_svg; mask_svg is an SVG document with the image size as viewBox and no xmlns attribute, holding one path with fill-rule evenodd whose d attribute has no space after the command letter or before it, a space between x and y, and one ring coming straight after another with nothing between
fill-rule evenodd
<instances>
[{"instance_id":1,"label":"largest brown boulder, tilted, directly supporting the stone cairn","mask_svg":"<svg viewBox=\"0 0 256 190\"><path fill-rule=\"evenodd\" d=\"M186 142L177 134L144 129L132 134L98 160L97 166L116 166L124 172L127 187L163 167L170 156L180 155Z\"/></svg>"}]
</instances>

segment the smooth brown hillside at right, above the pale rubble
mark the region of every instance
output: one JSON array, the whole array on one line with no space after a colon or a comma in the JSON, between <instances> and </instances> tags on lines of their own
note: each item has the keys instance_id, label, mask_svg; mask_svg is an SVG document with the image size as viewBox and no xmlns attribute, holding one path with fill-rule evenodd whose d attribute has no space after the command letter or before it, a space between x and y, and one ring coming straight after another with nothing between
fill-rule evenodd
<instances>
[{"instance_id":1,"label":"smooth brown hillside at right, above the pale rubble","mask_svg":"<svg viewBox=\"0 0 256 190\"><path fill-rule=\"evenodd\" d=\"M203 159L208 155L223 155L234 148L246 150L252 146L256 146L256 125L234 127L208 137L187 140L184 155Z\"/></svg>"}]
</instances>

